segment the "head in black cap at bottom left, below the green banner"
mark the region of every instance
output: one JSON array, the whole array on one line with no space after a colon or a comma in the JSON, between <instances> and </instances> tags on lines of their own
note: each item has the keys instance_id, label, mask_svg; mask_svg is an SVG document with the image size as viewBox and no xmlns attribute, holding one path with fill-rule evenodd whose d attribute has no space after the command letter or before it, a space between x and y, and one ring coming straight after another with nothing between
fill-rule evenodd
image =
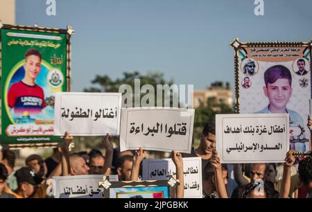
<instances>
[{"instance_id":1,"label":"head in black cap at bottom left, below the green banner","mask_svg":"<svg viewBox=\"0 0 312 212\"><path fill-rule=\"evenodd\" d=\"M29 167L22 167L16 171L17 193L22 197L30 197L35 191L35 172Z\"/></svg>"}]
</instances>

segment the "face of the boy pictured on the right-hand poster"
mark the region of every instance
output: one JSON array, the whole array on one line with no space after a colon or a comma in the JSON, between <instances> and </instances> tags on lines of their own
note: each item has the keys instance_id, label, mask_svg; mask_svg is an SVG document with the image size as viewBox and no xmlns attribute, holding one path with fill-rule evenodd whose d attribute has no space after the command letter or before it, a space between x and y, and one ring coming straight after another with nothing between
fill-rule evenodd
<instances>
[{"instance_id":1,"label":"face of the boy pictured on the right-hand poster","mask_svg":"<svg viewBox=\"0 0 312 212\"><path fill-rule=\"evenodd\" d=\"M270 106L276 109L286 109L293 88L288 79L277 79L274 83L268 83L266 87L263 87L263 91L270 101Z\"/></svg>"}]
</instances>

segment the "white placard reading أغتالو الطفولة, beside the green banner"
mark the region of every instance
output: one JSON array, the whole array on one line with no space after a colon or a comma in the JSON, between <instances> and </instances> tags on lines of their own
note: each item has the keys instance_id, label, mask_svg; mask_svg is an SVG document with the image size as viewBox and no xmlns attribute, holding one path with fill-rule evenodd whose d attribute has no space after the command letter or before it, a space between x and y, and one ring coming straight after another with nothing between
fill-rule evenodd
<instances>
[{"instance_id":1,"label":"white placard reading \u0623\u063a\u062a\u0627\u0644\u0648 \u0627\u0644\u0637\u0641\u0648\u0644\u0629, beside the green banner","mask_svg":"<svg viewBox=\"0 0 312 212\"><path fill-rule=\"evenodd\" d=\"M54 134L66 131L77 136L119 134L121 116L120 93L55 94Z\"/></svg>"}]
</instances>

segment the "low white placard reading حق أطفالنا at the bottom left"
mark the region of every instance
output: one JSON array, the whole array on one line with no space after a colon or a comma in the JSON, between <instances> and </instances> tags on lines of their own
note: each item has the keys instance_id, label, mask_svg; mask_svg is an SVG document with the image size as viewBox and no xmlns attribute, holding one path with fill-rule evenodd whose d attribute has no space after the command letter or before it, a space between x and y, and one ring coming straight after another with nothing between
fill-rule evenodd
<instances>
[{"instance_id":1,"label":"low white placard reading \u062d\u0642 \u0623\u0637\u0641\u0627\u0644\u0646\u0627 at the bottom left","mask_svg":"<svg viewBox=\"0 0 312 212\"><path fill-rule=\"evenodd\" d=\"M107 175L110 181L118 181L118 175ZM76 175L53 177L55 198L104 198L104 188L98 186L103 175Z\"/></svg>"}]
</instances>

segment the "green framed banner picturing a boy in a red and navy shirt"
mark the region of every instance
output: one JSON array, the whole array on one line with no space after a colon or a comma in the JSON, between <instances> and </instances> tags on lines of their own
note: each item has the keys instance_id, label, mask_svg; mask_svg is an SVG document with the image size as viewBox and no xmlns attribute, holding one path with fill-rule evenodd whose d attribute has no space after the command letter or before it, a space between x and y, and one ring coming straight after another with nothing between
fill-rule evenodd
<instances>
[{"instance_id":1,"label":"green framed banner picturing a boy in a red and navy shirt","mask_svg":"<svg viewBox=\"0 0 312 212\"><path fill-rule=\"evenodd\" d=\"M67 90L67 33L1 29L1 143L55 143L54 94Z\"/></svg>"}]
</instances>

